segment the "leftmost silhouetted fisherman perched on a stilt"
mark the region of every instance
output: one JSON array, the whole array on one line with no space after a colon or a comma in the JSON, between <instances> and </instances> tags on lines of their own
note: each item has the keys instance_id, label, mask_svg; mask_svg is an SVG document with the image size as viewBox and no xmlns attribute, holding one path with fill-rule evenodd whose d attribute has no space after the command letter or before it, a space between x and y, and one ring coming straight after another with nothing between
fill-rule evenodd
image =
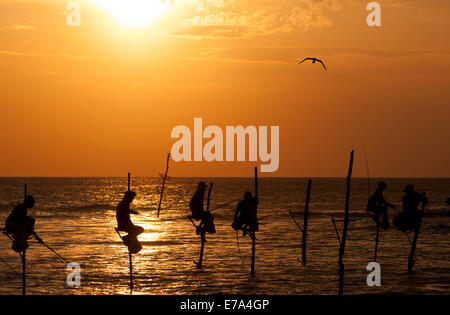
<instances>
[{"instance_id":1,"label":"leftmost silhouetted fisherman perched on a stilt","mask_svg":"<svg viewBox=\"0 0 450 315\"><path fill-rule=\"evenodd\" d=\"M28 216L28 209L34 207L33 196L26 196L24 203L14 207L5 222L5 231L13 238L12 249L21 252L29 247L28 238L33 235L39 243L42 239L34 232L35 219Z\"/></svg>"}]
</instances>

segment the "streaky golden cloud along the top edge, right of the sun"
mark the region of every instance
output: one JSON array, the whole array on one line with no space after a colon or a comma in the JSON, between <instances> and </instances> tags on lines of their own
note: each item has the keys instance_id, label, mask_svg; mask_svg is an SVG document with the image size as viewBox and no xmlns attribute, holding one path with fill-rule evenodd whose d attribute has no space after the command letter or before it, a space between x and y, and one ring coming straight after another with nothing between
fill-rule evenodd
<instances>
[{"instance_id":1,"label":"streaky golden cloud along the top edge, right of the sun","mask_svg":"<svg viewBox=\"0 0 450 315\"><path fill-rule=\"evenodd\" d=\"M332 25L328 12L343 8L339 0L185 0L190 13L175 36L188 38L244 38L291 33Z\"/></svg>"}]
</instances>

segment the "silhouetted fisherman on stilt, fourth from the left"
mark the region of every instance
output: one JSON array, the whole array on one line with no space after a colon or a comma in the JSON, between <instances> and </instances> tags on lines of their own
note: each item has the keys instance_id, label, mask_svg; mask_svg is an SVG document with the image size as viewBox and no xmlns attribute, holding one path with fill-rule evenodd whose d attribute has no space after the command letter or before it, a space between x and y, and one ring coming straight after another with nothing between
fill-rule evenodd
<instances>
[{"instance_id":1,"label":"silhouetted fisherman on stilt, fourth from the left","mask_svg":"<svg viewBox=\"0 0 450 315\"><path fill-rule=\"evenodd\" d=\"M250 191L246 191L244 200L239 201L236 207L231 227L235 230L242 230L244 236L248 232L258 231L257 206L258 201L253 198Z\"/></svg>"}]
</instances>

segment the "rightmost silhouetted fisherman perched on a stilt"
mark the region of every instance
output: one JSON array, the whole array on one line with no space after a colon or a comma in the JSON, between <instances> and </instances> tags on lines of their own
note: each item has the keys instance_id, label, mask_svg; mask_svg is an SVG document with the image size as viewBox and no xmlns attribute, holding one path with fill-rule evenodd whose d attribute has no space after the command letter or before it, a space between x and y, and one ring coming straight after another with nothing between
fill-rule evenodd
<instances>
[{"instance_id":1,"label":"rightmost silhouetted fisherman perched on a stilt","mask_svg":"<svg viewBox=\"0 0 450 315\"><path fill-rule=\"evenodd\" d=\"M424 208L428 204L428 198L425 193L419 193L414 190L413 185L406 185L406 193L402 199L403 213L396 216L393 224L402 232L412 231L416 228L419 219L419 205Z\"/></svg>"}]
</instances>

